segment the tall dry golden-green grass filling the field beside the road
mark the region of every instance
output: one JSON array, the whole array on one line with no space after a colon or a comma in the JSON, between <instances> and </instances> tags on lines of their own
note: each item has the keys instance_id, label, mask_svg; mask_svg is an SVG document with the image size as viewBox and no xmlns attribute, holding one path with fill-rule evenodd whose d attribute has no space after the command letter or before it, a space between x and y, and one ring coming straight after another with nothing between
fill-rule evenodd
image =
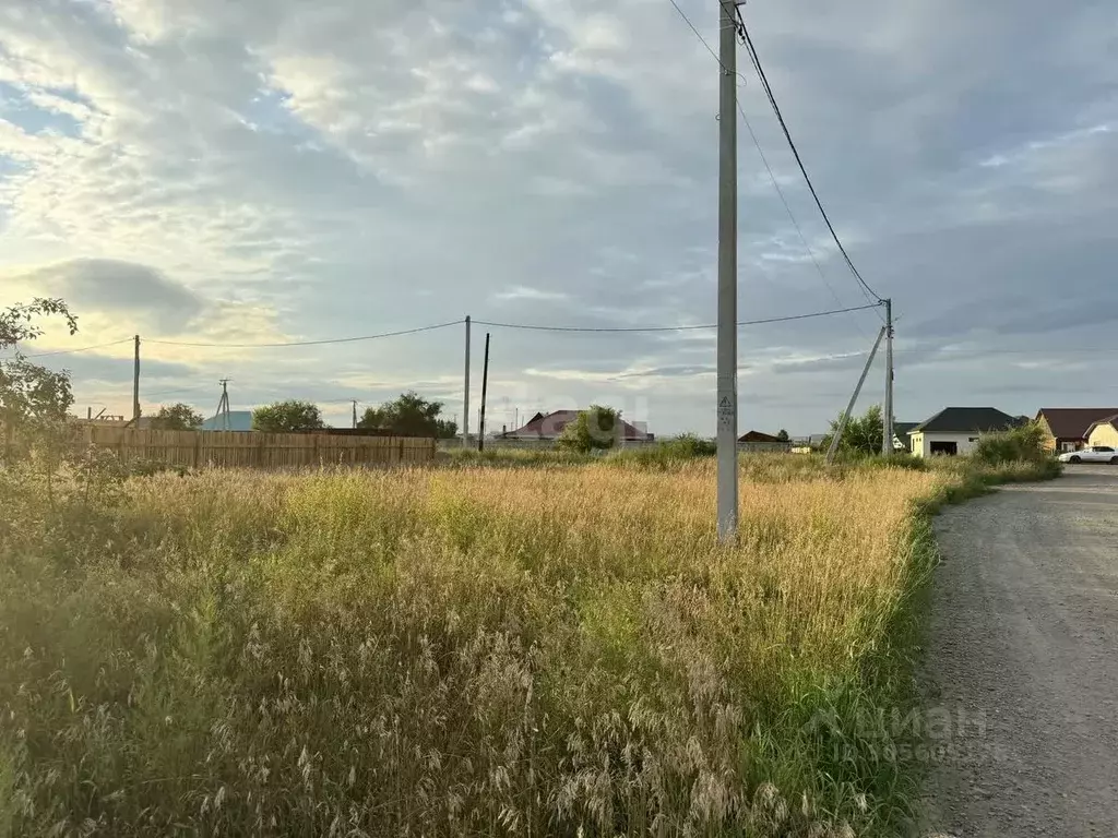
<instances>
[{"instance_id":1,"label":"tall dry golden-green grass filling the field beside the road","mask_svg":"<svg viewBox=\"0 0 1118 838\"><path fill-rule=\"evenodd\" d=\"M889 831L946 478L712 467L9 480L0 835Z\"/></svg>"}]
</instances>

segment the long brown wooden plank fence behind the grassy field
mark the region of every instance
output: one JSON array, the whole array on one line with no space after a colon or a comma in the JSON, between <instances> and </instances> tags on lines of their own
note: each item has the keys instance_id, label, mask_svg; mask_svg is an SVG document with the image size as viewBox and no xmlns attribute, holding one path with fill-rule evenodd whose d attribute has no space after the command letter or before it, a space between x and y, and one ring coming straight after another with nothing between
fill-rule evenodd
<instances>
[{"instance_id":1,"label":"long brown wooden plank fence behind the grassy field","mask_svg":"<svg viewBox=\"0 0 1118 838\"><path fill-rule=\"evenodd\" d=\"M435 458L435 440L418 437L136 430L95 426L83 428L80 434L87 445L108 448L125 461L146 459L195 468L408 465Z\"/></svg>"}]
</instances>

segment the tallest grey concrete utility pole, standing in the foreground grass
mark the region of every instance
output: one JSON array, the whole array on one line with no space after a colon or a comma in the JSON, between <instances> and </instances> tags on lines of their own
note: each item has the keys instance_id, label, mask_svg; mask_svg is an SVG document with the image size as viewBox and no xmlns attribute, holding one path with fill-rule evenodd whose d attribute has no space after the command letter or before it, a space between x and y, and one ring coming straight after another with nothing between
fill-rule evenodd
<instances>
[{"instance_id":1,"label":"tallest grey concrete utility pole, standing in the foreground grass","mask_svg":"<svg viewBox=\"0 0 1118 838\"><path fill-rule=\"evenodd\" d=\"M738 26L719 0L718 540L738 534Z\"/></svg>"}]
</instances>

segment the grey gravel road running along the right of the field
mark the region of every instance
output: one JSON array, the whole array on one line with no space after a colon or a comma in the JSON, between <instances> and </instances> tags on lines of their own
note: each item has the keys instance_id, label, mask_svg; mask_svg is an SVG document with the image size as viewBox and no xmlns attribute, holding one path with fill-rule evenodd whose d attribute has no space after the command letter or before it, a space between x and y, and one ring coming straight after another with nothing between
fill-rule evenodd
<instances>
[{"instance_id":1,"label":"grey gravel road running along the right of the field","mask_svg":"<svg viewBox=\"0 0 1118 838\"><path fill-rule=\"evenodd\" d=\"M1118 468L936 520L921 834L1118 836Z\"/></svg>"}]
</instances>

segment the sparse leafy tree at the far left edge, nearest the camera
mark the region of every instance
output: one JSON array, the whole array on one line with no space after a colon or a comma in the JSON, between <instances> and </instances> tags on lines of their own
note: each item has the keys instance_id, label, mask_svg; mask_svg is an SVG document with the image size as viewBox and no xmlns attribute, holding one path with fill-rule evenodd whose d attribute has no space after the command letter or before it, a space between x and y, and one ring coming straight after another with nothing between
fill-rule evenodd
<instances>
[{"instance_id":1,"label":"sparse leafy tree at the far left edge, nearest the camera","mask_svg":"<svg viewBox=\"0 0 1118 838\"><path fill-rule=\"evenodd\" d=\"M42 334L34 321L47 316L63 317L69 333L77 332L77 318L60 299L36 297L0 310L0 349L16 349L13 358L0 361L0 425L9 441L16 430L35 435L65 426L74 403L69 373L32 363L19 347Z\"/></svg>"}]
</instances>

